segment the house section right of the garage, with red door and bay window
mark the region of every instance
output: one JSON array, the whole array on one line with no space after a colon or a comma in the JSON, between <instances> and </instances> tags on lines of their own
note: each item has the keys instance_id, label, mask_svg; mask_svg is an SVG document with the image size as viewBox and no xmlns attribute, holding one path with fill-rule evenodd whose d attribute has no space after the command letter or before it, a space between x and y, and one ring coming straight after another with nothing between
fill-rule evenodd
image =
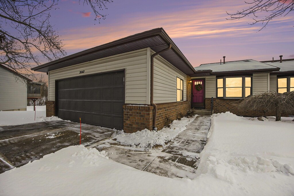
<instances>
[{"instance_id":1,"label":"house section right of the garage, with red door and bay window","mask_svg":"<svg viewBox=\"0 0 294 196\"><path fill-rule=\"evenodd\" d=\"M244 116L275 115L274 111L268 110L240 111L233 103L256 93L293 91L293 62L263 63L248 59L202 64L191 75L191 106L211 110L213 104L214 113L230 111ZM201 91L195 89L199 82L203 83Z\"/></svg>"}]
</instances>

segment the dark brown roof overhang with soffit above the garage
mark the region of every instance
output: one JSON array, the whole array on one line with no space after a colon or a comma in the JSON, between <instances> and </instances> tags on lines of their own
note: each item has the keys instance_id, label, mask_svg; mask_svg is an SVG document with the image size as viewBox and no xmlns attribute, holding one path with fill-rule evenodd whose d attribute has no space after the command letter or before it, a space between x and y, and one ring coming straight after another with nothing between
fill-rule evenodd
<instances>
[{"instance_id":1,"label":"dark brown roof overhang with soffit above the garage","mask_svg":"<svg viewBox=\"0 0 294 196\"><path fill-rule=\"evenodd\" d=\"M171 40L163 28L152 29L143 33L138 33L126 38L122 38L110 43L96 46L49 63L32 68L33 71L49 72L59 68L64 68L79 63L85 63L96 59L113 56L121 53L135 51L143 48L151 48L158 52L171 44L171 50L161 53L164 59L170 62L185 74L195 73L193 66L189 63L176 44Z\"/></svg>"}]
</instances>

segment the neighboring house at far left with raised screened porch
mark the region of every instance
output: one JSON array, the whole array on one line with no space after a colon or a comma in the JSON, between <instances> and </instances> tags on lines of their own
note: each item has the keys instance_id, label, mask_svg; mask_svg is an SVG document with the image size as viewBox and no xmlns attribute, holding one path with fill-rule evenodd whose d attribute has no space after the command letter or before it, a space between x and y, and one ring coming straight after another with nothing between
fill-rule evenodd
<instances>
[{"instance_id":1,"label":"neighboring house at far left with raised screened porch","mask_svg":"<svg viewBox=\"0 0 294 196\"><path fill-rule=\"evenodd\" d=\"M15 71L0 64L0 111L15 111L26 110L27 99L41 97L41 92L36 92L40 89L41 83L33 82ZM34 97L29 94L27 84L33 85L32 90L36 92Z\"/></svg>"}]
</instances>

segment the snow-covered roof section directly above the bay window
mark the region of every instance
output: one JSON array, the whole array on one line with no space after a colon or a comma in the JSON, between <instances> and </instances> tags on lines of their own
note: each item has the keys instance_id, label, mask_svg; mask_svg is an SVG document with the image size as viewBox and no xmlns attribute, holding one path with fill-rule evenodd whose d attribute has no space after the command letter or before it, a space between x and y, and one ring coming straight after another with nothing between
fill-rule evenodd
<instances>
[{"instance_id":1,"label":"snow-covered roof section directly above the bay window","mask_svg":"<svg viewBox=\"0 0 294 196\"><path fill-rule=\"evenodd\" d=\"M242 61L229 61L225 64L220 63L208 63L201 64L195 67L196 71L212 70L213 72L225 72L225 71L245 71L245 70L261 70L261 69L275 69L276 67L261 63L252 59Z\"/></svg>"}]
</instances>

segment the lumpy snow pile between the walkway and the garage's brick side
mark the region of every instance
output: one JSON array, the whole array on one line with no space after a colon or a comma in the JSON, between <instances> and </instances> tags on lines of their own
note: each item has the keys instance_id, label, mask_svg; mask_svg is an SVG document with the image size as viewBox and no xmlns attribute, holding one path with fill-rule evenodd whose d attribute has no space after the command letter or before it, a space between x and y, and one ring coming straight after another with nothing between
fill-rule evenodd
<instances>
[{"instance_id":1,"label":"lumpy snow pile between the walkway and the garage's brick side","mask_svg":"<svg viewBox=\"0 0 294 196\"><path fill-rule=\"evenodd\" d=\"M144 129L136 133L123 133L117 135L115 139L122 145L145 148L146 150L150 150L155 145L165 147L166 143L185 130L186 125L193 121L195 117L174 120L170 128L163 128L159 131Z\"/></svg>"}]
</instances>

